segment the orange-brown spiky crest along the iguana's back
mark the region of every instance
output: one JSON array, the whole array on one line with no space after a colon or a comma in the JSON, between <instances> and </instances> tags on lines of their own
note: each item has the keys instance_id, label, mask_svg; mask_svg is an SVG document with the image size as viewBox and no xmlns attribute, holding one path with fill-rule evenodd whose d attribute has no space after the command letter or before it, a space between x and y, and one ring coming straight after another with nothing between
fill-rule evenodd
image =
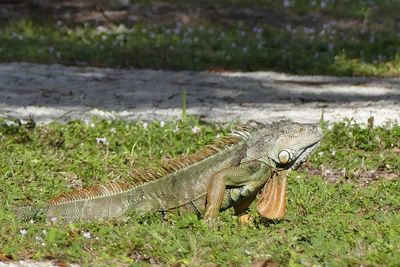
<instances>
[{"instance_id":1,"label":"orange-brown spiky crest along the iguana's back","mask_svg":"<svg viewBox=\"0 0 400 267\"><path fill-rule=\"evenodd\" d=\"M216 153L237 144L241 140L248 138L250 136L250 132L254 128L258 127L254 127L254 125L250 126L250 124L240 125L237 127L237 130L234 131L232 134L222 137L217 141L214 141L212 144L207 145L205 148L199 150L192 155L183 156L178 159L165 160L159 168L133 170L130 173L130 175L134 177L134 181L132 182L108 182L105 184L93 185L88 188L64 193L58 197L51 199L49 201L49 204L58 205L84 199L94 199L98 197L110 196L128 191L147 182L166 177L179 170L183 170L192 164L207 159L212 155L215 155Z\"/></svg>"}]
</instances>

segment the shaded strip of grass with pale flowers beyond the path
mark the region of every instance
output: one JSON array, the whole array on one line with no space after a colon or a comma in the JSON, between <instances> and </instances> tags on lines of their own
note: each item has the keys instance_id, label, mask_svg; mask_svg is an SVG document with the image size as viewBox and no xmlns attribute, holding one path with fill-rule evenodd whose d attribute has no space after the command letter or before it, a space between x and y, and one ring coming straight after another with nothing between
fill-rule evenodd
<instances>
[{"instance_id":1,"label":"shaded strip of grass with pale flowers beyond the path","mask_svg":"<svg viewBox=\"0 0 400 267\"><path fill-rule=\"evenodd\" d=\"M211 3L169 2L203 9ZM0 28L0 62L399 75L398 1L289 2L213 1L222 9L264 10L275 18L267 21L204 16L188 24L169 19L112 26L16 19Z\"/></svg>"}]
</instances>

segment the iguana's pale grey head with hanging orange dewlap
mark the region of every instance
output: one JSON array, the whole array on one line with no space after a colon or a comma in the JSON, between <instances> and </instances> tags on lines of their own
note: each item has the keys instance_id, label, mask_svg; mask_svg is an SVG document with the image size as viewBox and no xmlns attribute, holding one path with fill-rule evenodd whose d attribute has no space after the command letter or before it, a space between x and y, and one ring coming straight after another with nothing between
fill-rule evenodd
<instances>
[{"instance_id":1,"label":"iguana's pale grey head with hanging orange dewlap","mask_svg":"<svg viewBox=\"0 0 400 267\"><path fill-rule=\"evenodd\" d=\"M262 160L275 169L263 188L257 210L266 218L282 219L286 213L287 171L297 168L316 149L322 131L316 124L290 121L257 127L247 156Z\"/></svg>"}]
</instances>

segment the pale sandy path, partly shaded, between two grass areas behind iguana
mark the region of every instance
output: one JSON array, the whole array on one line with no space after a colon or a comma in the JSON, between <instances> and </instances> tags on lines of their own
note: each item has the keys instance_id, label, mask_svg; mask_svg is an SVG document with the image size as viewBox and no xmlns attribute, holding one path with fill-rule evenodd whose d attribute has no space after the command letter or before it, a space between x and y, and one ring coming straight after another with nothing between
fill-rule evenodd
<instances>
[{"instance_id":1,"label":"pale sandy path, partly shaded, between two grass areas behind iguana","mask_svg":"<svg viewBox=\"0 0 400 267\"><path fill-rule=\"evenodd\" d=\"M127 120L179 117L209 121L344 117L376 124L400 121L400 78L294 76L274 72L213 73L0 64L0 116L49 122L93 115Z\"/></svg>"}]
</instances>

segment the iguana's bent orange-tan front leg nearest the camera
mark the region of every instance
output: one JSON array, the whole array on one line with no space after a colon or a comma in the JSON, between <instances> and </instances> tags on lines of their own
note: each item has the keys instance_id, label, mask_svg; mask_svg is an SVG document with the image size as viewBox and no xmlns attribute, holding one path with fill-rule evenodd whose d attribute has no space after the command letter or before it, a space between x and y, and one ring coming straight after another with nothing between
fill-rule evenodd
<instances>
[{"instance_id":1,"label":"iguana's bent orange-tan front leg nearest the camera","mask_svg":"<svg viewBox=\"0 0 400 267\"><path fill-rule=\"evenodd\" d=\"M242 187L254 181L260 181L260 183L262 183L263 181L261 180L266 181L266 179L268 179L266 175L268 170L269 167L265 163L254 160L242 163L239 166L228 167L226 169L217 172L211 178L208 184L207 197L206 197L206 211L204 214L204 218L206 220L210 220L218 216L218 213L221 209L221 205L224 200L225 189L227 188L227 186ZM258 188L252 188L251 186L248 186L246 189L250 191L252 190L255 191ZM246 192L246 194L249 193L250 192ZM249 194L249 198L252 197L253 194ZM247 202L247 200L248 199L246 199L244 202Z\"/></svg>"}]
</instances>

